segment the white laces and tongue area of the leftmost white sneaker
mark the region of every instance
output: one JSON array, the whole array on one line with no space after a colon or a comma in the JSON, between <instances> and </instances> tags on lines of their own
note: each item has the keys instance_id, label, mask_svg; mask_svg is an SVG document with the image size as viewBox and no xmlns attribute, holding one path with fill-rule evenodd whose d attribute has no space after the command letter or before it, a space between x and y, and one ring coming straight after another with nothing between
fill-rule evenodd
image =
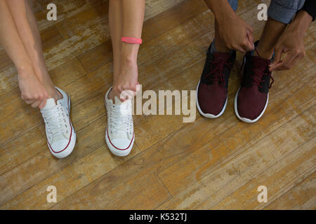
<instances>
[{"instance_id":1,"label":"white laces and tongue area of the leftmost white sneaker","mask_svg":"<svg viewBox=\"0 0 316 224\"><path fill-rule=\"evenodd\" d=\"M65 111L60 104L52 109L42 110L41 114L52 137L68 132Z\"/></svg>"}]
</instances>

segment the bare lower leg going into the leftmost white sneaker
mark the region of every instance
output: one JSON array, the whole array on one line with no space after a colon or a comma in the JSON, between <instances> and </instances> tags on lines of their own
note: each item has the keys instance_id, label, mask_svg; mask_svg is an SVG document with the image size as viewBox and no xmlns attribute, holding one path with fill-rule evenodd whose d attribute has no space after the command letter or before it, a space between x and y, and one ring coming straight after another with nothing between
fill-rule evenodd
<instances>
[{"instance_id":1,"label":"bare lower leg going into the leftmost white sneaker","mask_svg":"<svg viewBox=\"0 0 316 224\"><path fill-rule=\"evenodd\" d=\"M62 96L55 89L46 68L41 46L41 36L32 8L29 6L27 0L10 0L7 1L7 3L13 15L13 20L15 21L22 43L32 61L34 71L39 77L39 80L41 80L46 87L48 97L60 99Z\"/></svg>"}]
</instances>

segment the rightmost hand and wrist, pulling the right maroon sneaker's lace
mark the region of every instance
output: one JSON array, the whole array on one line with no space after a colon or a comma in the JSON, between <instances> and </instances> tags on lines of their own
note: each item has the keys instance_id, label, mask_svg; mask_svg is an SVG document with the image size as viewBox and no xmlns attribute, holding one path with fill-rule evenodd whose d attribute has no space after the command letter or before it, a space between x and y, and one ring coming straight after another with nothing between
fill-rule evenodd
<instances>
[{"instance_id":1,"label":"rightmost hand and wrist, pulling the right maroon sneaker's lace","mask_svg":"<svg viewBox=\"0 0 316 224\"><path fill-rule=\"evenodd\" d=\"M312 16L309 13L305 10L298 11L275 45L275 60L270 64L270 71L291 69L305 56L304 34L310 22ZM284 59L281 59L282 53L287 53Z\"/></svg>"}]
</instances>

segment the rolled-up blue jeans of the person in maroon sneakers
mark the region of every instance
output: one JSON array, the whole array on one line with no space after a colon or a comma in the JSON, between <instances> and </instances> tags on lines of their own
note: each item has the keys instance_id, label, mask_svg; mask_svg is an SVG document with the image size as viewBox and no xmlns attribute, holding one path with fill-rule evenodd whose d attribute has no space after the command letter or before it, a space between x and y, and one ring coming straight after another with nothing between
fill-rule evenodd
<instances>
[{"instance_id":1,"label":"rolled-up blue jeans of the person in maroon sneakers","mask_svg":"<svg viewBox=\"0 0 316 224\"><path fill-rule=\"evenodd\" d=\"M304 2L305 0L271 0L268 17L289 24ZM237 10L238 0L228 0L228 3L234 11Z\"/></svg>"}]
</instances>

